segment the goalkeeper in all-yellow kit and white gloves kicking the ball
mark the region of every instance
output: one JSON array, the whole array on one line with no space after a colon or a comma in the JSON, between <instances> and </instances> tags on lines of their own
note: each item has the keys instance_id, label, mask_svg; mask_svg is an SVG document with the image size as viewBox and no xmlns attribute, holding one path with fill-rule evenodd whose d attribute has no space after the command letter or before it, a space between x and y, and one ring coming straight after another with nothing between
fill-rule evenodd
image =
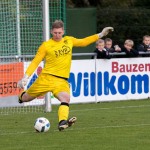
<instances>
[{"instance_id":1,"label":"goalkeeper in all-yellow kit and white gloves kicking the ball","mask_svg":"<svg viewBox=\"0 0 150 150\"><path fill-rule=\"evenodd\" d=\"M19 103L32 101L38 96L52 92L61 103L58 109L59 131L72 126L77 120L76 117L69 119L70 89L67 79L70 74L72 48L88 46L106 36L110 31L113 31L113 28L106 27L101 33L83 39L63 37L64 24L61 20L55 20L51 29L52 38L40 45L24 77L18 81L18 87L23 88L39 63L45 59L45 66L39 77L29 89L20 93Z\"/></svg>"}]
</instances>

